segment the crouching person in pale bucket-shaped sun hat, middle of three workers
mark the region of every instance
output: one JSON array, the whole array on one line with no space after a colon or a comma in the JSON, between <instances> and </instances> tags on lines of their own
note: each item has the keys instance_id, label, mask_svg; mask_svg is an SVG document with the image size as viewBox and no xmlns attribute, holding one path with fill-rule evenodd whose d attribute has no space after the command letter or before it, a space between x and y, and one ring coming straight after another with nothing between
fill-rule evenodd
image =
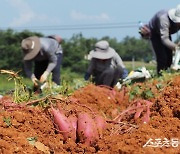
<instances>
[{"instance_id":1,"label":"crouching person in pale bucket-shaped sun hat, middle of three workers","mask_svg":"<svg viewBox=\"0 0 180 154\"><path fill-rule=\"evenodd\" d=\"M95 49L90 51L91 61L84 76L88 80L92 75L96 85L114 87L120 78L125 78L128 71L121 57L109 46L105 40L95 44Z\"/></svg>"}]
</instances>

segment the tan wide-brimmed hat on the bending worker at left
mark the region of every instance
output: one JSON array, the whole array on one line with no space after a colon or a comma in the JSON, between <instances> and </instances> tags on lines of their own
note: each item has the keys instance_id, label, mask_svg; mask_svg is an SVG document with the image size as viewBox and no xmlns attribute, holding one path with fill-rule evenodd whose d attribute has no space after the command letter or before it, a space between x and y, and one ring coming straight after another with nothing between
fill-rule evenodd
<instances>
[{"instance_id":1,"label":"tan wide-brimmed hat on the bending worker at left","mask_svg":"<svg viewBox=\"0 0 180 154\"><path fill-rule=\"evenodd\" d=\"M40 39L37 36L28 37L21 42L24 60L33 59L40 51Z\"/></svg>"}]
</instances>

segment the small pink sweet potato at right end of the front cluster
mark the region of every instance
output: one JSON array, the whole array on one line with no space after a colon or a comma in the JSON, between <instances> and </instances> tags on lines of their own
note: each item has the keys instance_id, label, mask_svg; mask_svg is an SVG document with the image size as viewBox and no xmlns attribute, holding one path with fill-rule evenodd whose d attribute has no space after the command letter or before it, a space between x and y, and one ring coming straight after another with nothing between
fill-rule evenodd
<instances>
[{"instance_id":1,"label":"small pink sweet potato at right end of the front cluster","mask_svg":"<svg viewBox=\"0 0 180 154\"><path fill-rule=\"evenodd\" d=\"M106 128L106 120L102 116L99 116L99 115L97 115L94 120L97 126L99 137L102 138L103 130Z\"/></svg>"}]
</instances>

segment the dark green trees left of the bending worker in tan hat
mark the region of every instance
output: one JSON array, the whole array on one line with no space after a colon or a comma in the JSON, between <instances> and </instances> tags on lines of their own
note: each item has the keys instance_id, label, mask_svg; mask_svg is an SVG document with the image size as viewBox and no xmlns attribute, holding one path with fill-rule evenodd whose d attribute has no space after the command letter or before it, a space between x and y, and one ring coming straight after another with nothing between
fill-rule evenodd
<instances>
[{"instance_id":1,"label":"dark green trees left of the bending worker in tan hat","mask_svg":"<svg viewBox=\"0 0 180 154\"><path fill-rule=\"evenodd\" d=\"M12 29L0 31L0 69L22 70L21 41L29 36L42 36L40 33L23 31L14 32Z\"/></svg>"}]
</instances>

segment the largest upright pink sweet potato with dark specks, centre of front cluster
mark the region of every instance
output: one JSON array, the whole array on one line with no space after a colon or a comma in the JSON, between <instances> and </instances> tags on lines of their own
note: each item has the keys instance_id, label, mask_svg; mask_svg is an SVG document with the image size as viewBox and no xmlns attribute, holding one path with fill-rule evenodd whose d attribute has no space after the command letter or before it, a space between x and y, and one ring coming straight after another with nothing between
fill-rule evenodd
<instances>
[{"instance_id":1,"label":"largest upright pink sweet potato with dark specks, centre of front cluster","mask_svg":"<svg viewBox=\"0 0 180 154\"><path fill-rule=\"evenodd\" d=\"M86 145L92 145L99 139L95 121L88 113L79 113L77 134L79 141Z\"/></svg>"}]
</instances>

